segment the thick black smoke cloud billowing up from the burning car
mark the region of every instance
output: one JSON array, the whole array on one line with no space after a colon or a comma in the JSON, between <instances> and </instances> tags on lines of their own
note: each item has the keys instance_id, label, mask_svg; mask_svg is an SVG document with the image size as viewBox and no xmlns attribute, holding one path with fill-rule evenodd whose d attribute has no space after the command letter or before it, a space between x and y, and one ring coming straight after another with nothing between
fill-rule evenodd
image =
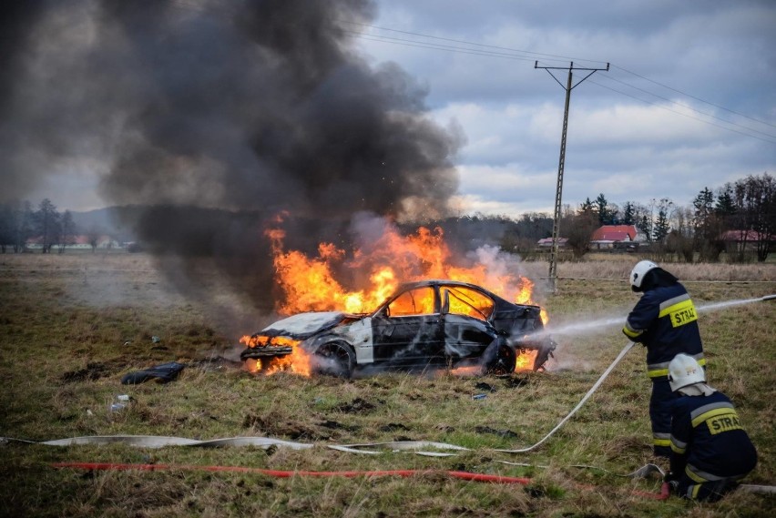
<instances>
[{"instance_id":1,"label":"thick black smoke cloud billowing up from the burning car","mask_svg":"<svg viewBox=\"0 0 776 518\"><path fill-rule=\"evenodd\" d=\"M0 201L88 169L106 205L140 207L139 238L181 285L202 288L189 258L207 258L267 309L262 230L281 211L301 248L342 245L356 212L447 214L463 137L428 117L413 77L358 54L370 0L0 9Z\"/></svg>"}]
</instances>

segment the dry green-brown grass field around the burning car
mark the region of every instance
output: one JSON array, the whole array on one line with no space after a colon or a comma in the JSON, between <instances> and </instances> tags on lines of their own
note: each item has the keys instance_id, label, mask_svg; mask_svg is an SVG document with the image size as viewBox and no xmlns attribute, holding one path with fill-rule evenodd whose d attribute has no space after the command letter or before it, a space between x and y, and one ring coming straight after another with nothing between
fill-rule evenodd
<instances>
[{"instance_id":1,"label":"dry green-brown grass field around the burning car","mask_svg":"<svg viewBox=\"0 0 776 518\"><path fill-rule=\"evenodd\" d=\"M776 496L733 493L720 503L658 501L658 478L627 473L652 462L649 382L637 346L577 415L541 439L597 381L627 340L636 302L621 280L636 258L562 263L554 295L538 293L557 330L549 371L508 378L383 374L350 381L254 376L234 361L241 334L266 323L220 283L180 294L152 258L134 254L0 256L0 436L41 442L87 435L189 439L260 436L312 444L148 449L126 444L0 445L5 516L771 516ZM168 268L168 267L167 267ZM776 266L667 265L696 305L776 292ZM546 265L527 264L543 275ZM207 296L202 296L207 293ZM614 323L613 323L614 322ZM701 311L710 384L737 404L760 463L744 482L776 484L776 302ZM121 385L129 371L187 364L177 381ZM486 397L474 400L473 395ZM132 398L110 411L118 394ZM329 444L447 442L450 457ZM164 471L85 471L54 462L173 465ZM512 462L508 464L505 462ZM526 463L530 466L519 466ZM206 472L182 466L281 471L428 470L410 478ZM597 466L603 470L574 467ZM470 482L447 471L530 479Z\"/></svg>"}]
</instances>

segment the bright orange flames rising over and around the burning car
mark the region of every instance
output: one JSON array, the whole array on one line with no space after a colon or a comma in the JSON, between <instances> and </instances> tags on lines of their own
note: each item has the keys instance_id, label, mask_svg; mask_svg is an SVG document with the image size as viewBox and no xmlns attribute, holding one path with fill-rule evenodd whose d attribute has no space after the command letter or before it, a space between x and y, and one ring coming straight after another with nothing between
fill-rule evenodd
<instances>
[{"instance_id":1,"label":"bright orange flames rising over and around the burning car","mask_svg":"<svg viewBox=\"0 0 776 518\"><path fill-rule=\"evenodd\" d=\"M518 304L533 304L534 283L525 277L508 272L507 269L489 270L483 262L469 267L454 266L451 251L444 243L444 233L440 228L432 230L420 227L414 234L402 236L398 229L386 226L382 236L368 247L352 250L350 259L346 250L338 249L332 243L319 244L318 255L309 257L301 251L287 251L283 248L285 232L282 229L267 229L265 235L271 242L276 280L282 293L276 308L281 315L331 310L366 313L393 294L401 282L420 279L460 280L484 286L496 295ZM343 286L335 273L343 270L352 273L357 278L355 283L363 288L348 289ZM358 282L358 279L362 281ZM434 303L433 291L429 289L427 298L420 302L414 300L413 303L414 309L417 309L418 303L422 307L431 307ZM544 309L541 310L541 319L546 323ZM243 337L246 341L240 341L250 347L257 347L262 345L258 343L260 338L263 337L257 337L255 344L250 343L253 340L250 337ZM307 355L296 348L295 343L288 345L294 347L293 353L276 361L278 369L283 366L285 370L306 372L305 375L308 375L310 359L305 358ZM532 368L536 353L529 352L531 354L518 356L518 370ZM299 358L299 365L296 358ZM286 361L291 365L287 369Z\"/></svg>"}]
</instances>

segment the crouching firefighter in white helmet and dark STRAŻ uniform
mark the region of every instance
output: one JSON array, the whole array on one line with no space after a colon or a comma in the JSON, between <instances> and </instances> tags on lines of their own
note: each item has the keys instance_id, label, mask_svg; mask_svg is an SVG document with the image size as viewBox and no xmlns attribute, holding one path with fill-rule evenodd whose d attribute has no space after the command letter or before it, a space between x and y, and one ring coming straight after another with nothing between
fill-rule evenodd
<instances>
[{"instance_id":1,"label":"crouching firefighter in white helmet and dark STRA\u017b uniform","mask_svg":"<svg viewBox=\"0 0 776 518\"><path fill-rule=\"evenodd\" d=\"M706 384L698 361L678 354L669 363L669 383L679 399L672 412L666 481L684 498L716 502L754 469L757 452L733 403Z\"/></svg>"}]
</instances>

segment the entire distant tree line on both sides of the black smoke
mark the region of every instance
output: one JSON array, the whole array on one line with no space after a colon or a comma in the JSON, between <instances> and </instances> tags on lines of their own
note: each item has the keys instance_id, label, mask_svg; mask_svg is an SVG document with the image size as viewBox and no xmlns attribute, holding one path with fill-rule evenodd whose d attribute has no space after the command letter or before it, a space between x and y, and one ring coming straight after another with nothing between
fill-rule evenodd
<instances>
[{"instance_id":1,"label":"entire distant tree line on both sides of the black smoke","mask_svg":"<svg viewBox=\"0 0 776 518\"><path fill-rule=\"evenodd\" d=\"M527 255L539 239L552 236L553 219L543 212L526 212L519 218L475 214L427 222L444 230L445 240L470 250L498 244L508 252ZM593 232L602 225L633 225L645 237L650 253L673 255L686 261L714 262L722 252L729 260L743 261L750 251L759 261L768 258L776 244L776 181L768 173L749 176L720 188L703 188L686 207L670 198L648 203L611 203L605 194L587 198L577 208L565 206L560 235L577 258L589 250ZM404 225L412 233L417 225ZM730 232L733 233L730 237ZM0 249L23 251L37 239L43 253L56 247L64 251L82 232L69 210L60 213L50 199L37 207L29 201L0 204ZM92 249L102 232L90 229Z\"/></svg>"}]
</instances>

